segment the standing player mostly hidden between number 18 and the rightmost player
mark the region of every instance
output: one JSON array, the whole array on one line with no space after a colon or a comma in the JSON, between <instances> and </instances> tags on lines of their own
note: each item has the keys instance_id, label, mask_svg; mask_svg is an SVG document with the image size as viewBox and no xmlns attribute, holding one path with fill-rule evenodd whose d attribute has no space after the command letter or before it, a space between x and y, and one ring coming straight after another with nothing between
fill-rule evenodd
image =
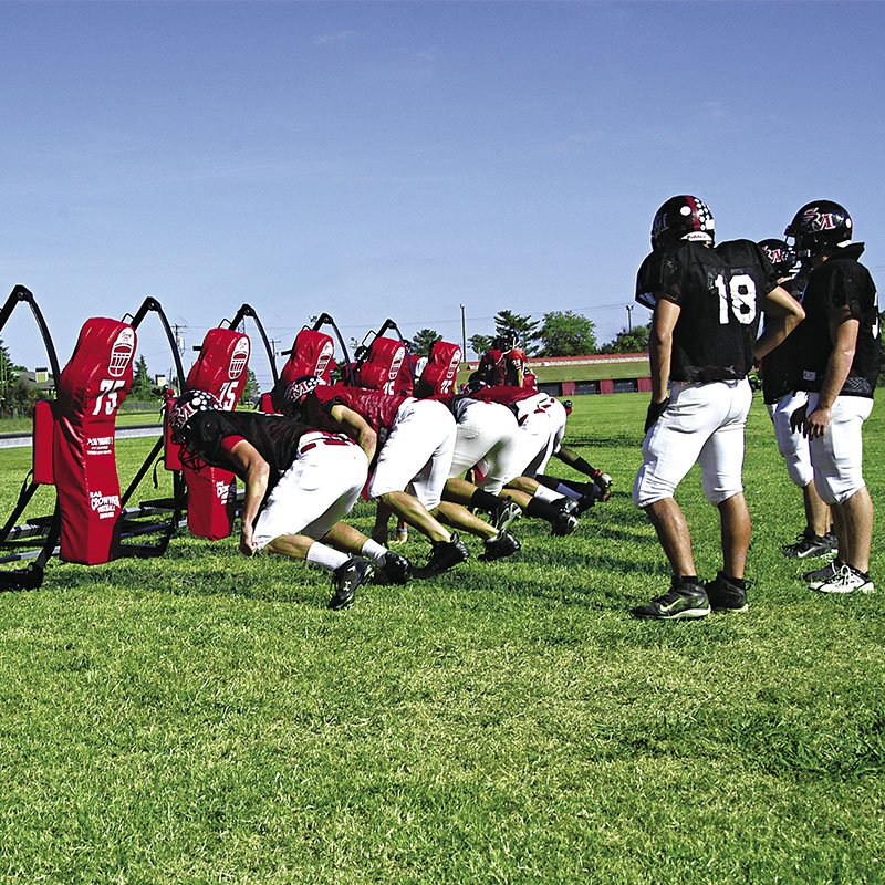
<instances>
[{"instance_id":1,"label":"standing player mostly hidden between number 18 and the rightmost player","mask_svg":"<svg viewBox=\"0 0 885 885\"><path fill-rule=\"evenodd\" d=\"M800 303L808 283L808 268L799 263L795 251L783 240L768 239L759 243L778 274L778 282ZM795 542L782 548L784 556L805 559L822 556L835 550L835 535L830 508L818 494L814 469L811 466L809 440L801 430L793 430L790 418L800 406L808 403L808 393L801 389L799 366L801 335L790 335L762 361L762 399L771 417L778 450L787 464L787 472L802 490L805 527Z\"/></svg>"}]
</instances>

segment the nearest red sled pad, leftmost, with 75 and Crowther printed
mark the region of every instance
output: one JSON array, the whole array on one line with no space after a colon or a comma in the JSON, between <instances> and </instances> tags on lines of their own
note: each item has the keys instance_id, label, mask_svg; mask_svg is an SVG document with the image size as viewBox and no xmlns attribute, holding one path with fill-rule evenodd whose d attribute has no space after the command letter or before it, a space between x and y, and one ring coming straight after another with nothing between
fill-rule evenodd
<instances>
[{"instance_id":1,"label":"nearest red sled pad, leftmost, with 75 and Crowther printed","mask_svg":"<svg viewBox=\"0 0 885 885\"><path fill-rule=\"evenodd\" d=\"M132 388L136 341L128 323L87 320L59 379L52 461L67 562L95 565L118 552L115 421Z\"/></svg>"}]
</instances>

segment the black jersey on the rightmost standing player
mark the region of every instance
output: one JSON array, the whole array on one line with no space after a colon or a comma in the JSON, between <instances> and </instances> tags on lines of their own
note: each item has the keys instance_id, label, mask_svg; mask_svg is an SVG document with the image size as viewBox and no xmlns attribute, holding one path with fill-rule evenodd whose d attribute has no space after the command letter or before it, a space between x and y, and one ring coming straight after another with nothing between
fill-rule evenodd
<instances>
[{"instance_id":1,"label":"black jersey on the rightmost standing player","mask_svg":"<svg viewBox=\"0 0 885 885\"><path fill-rule=\"evenodd\" d=\"M830 314L844 311L857 320L857 343L842 396L873 396L878 378L882 339L876 287L857 259L863 243L840 249L809 277L802 306L805 320L796 331L800 353L799 389L820 391L833 351Z\"/></svg>"}]
</instances>

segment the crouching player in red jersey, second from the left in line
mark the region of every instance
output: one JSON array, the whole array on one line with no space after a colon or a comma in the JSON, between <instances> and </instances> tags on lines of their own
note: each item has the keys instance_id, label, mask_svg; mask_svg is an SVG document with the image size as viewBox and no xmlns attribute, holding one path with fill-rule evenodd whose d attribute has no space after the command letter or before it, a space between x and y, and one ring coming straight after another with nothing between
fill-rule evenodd
<instances>
[{"instance_id":1,"label":"crouching player in red jersey, second from the left in line","mask_svg":"<svg viewBox=\"0 0 885 885\"><path fill-rule=\"evenodd\" d=\"M367 492L378 504L375 524L381 527L382 537L393 512L433 545L421 575L446 571L469 556L458 533L449 532L442 523L482 538L482 560L500 559L520 549L507 530L442 500L456 437L455 419L442 403L326 385L315 376L294 381L284 400L289 414L347 434L363 448L372 465Z\"/></svg>"}]
</instances>

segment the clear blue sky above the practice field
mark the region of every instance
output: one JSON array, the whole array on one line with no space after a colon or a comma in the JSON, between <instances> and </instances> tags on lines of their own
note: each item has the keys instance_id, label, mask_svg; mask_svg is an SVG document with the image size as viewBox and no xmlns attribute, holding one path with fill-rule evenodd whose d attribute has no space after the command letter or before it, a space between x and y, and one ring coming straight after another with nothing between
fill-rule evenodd
<instances>
[{"instance_id":1,"label":"clear blue sky above the practice field","mask_svg":"<svg viewBox=\"0 0 885 885\"><path fill-rule=\"evenodd\" d=\"M62 363L146 295L188 347L244 301L279 348L322 311L460 341L460 304L607 341L680 192L719 239L835 199L882 284L883 34L876 2L0 2L0 294ZM0 334L45 362L24 310ZM153 321L139 351L170 364Z\"/></svg>"}]
</instances>

